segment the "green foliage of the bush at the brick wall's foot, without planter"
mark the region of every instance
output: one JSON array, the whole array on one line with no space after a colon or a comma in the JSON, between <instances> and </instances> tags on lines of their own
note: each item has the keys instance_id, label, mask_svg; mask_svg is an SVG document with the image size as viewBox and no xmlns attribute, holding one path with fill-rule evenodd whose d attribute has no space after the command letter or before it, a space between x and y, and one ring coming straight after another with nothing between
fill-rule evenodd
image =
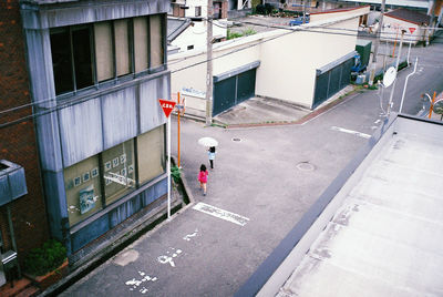
<instances>
[{"instance_id":1,"label":"green foliage of the bush at the brick wall's foot, without planter","mask_svg":"<svg viewBox=\"0 0 443 297\"><path fill-rule=\"evenodd\" d=\"M24 269L31 275L45 275L62 265L65 258L66 248L58 240L50 239L28 254Z\"/></svg>"}]
</instances>

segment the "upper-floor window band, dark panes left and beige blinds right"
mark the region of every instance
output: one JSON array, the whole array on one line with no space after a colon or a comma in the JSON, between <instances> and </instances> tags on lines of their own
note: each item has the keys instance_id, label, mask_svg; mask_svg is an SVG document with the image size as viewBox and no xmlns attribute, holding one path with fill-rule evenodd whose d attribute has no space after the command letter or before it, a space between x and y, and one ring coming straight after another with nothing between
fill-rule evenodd
<instances>
[{"instance_id":1,"label":"upper-floor window band, dark panes left and beige blinds right","mask_svg":"<svg viewBox=\"0 0 443 297\"><path fill-rule=\"evenodd\" d=\"M164 65L165 16L51 29L55 94Z\"/></svg>"}]
</instances>

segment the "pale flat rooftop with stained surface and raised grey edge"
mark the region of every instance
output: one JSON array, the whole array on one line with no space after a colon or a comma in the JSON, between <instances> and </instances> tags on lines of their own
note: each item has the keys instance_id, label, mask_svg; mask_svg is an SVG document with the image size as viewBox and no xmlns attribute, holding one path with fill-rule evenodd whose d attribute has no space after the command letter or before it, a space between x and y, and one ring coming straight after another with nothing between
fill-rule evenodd
<instances>
[{"instance_id":1,"label":"pale flat rooftop with stained surface and raised grey edge","mask_svg":"<svg viewBox=\"0 0 443 297\"><path fill-rule=\"evenodd\" d=\"M395 115L378 133L284 239L295 247L258 296L443 295L443 125Z\"/></svg>"}]
</instances>

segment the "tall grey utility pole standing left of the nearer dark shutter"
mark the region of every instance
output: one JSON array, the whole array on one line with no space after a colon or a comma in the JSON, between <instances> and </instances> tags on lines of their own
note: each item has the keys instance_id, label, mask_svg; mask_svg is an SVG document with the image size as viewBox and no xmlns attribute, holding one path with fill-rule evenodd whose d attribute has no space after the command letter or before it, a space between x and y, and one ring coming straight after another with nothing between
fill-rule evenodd
<instances>
[{"instance_id":1,"label":"tall grey utility pole standing left of the nearer dark shutter","mask_svg":"<svg viewBox=\"0 0 443 297\"><path fill-rule=\"evenodd\" d=\"M206 20L206 125L213 124L213 0L208 0Z\"/></svg>"}]
</instances>

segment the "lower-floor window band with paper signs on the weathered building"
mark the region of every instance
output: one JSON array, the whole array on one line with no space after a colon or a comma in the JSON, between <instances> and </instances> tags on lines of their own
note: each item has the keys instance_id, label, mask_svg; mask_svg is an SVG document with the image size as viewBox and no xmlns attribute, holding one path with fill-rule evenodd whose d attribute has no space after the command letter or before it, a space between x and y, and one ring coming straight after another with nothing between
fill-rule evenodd
<instances>
[{"instance_id":1,"label":"lower-floor window band with paper signs on the weathered building","mask_svg":"<svg viewBox=\"0 0 443 297\"><path fill-rule=\"evenodd\" d=\"M165 164L165 129L162 125L65 168L70 225L84 221L164 174Z\"/></svg>"}]
</instances>

